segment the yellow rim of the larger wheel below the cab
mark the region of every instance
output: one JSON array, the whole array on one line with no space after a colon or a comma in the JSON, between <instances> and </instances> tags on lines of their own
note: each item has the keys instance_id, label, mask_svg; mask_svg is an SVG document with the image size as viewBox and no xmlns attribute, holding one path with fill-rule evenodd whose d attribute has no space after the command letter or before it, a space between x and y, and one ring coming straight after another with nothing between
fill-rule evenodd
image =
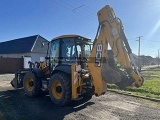
<instances>
[{"instance_id":1,"label":"yellow rim of the larger wheel below the cab","mask_svg":"<svg viewBox=\"0 0 160 120\"><path fill-rule=\"evenodd\" d=\"M62 85L58 80L55 80L52 83L52 94L56 99L60 99L62 97Z\"/></svg>"}]
</instances>

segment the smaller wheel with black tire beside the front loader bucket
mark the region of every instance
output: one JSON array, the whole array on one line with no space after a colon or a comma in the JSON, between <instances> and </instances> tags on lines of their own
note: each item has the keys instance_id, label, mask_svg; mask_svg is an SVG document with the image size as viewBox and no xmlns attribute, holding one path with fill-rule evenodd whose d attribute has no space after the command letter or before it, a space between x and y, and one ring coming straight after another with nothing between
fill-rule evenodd
<instances>
[{"instance_id":1,"label":"smaller wheel with black tire beside the front loader bucket","mask_svg":"<svg viewBox=\"0 0 160 120\"><path fill-rule=\"evenodd\" d=\"M40 95L40 93L42 91L42 89L41 89L42 88L42 82L41 82L41 80L39 80L35 76L34 73L28 72L24 76L23 87L24 87L25 93L28 96L30 96L30 97L38 96L38 95Z\"/></svg>"}]
</instances>

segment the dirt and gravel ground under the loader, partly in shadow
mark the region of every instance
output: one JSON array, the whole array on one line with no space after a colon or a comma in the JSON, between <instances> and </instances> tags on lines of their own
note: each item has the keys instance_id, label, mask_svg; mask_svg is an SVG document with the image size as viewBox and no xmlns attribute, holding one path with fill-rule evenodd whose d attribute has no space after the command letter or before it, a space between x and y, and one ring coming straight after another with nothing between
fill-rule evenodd
<instances>
[{"instance_id":1,"label":"dirt and gravel ground under the loader, partly in shadow","mask_svg":"<svg viewBox=\"0 0 160 120\"><path fill-rule=\"evenodd\" d=\"M158 120L160 103L107 92L81 105L55 106L47 92L30 98L14 90L13 74L0 75L0 120Z\"/></svg>"}]
</instances>

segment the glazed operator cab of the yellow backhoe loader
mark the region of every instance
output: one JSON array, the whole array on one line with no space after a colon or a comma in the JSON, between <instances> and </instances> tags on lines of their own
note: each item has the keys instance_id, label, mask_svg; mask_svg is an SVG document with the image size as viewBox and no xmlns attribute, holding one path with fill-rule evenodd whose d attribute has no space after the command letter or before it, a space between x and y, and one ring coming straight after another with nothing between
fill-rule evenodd
<instances>
[{"instance_id":1,"label":"glazed operator cab of the yellow backhoe loader","mask_svg":"<svg viewBox=\"0 0 160 120\"><path fill-rule=\"evenodd\" d=\"M78 63L83 68L91 49L91 39L80 35L62 35L53 38L50 45L51 67Z\"/></svg>"}]
</instances>

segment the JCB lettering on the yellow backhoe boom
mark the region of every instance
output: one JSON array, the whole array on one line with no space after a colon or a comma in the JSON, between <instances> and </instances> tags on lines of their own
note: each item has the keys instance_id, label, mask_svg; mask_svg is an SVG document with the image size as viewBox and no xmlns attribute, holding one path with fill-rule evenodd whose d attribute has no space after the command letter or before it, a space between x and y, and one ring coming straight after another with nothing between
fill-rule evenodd
<instances>
[{"instance_id":1,"label":"JCB lettering on the yellow backhoe boom","mask_svg":"<svg viewBox=\"0 0 160 120\"><path fill-rule=\"evenodd\" d=\"M103 50L103 45L102 45L102 43L97 44L96 60L95 60L95 65L96 65L97 67L100 67L100 66L101 66L102 50Z\"/></svg>"}]
</instances>

